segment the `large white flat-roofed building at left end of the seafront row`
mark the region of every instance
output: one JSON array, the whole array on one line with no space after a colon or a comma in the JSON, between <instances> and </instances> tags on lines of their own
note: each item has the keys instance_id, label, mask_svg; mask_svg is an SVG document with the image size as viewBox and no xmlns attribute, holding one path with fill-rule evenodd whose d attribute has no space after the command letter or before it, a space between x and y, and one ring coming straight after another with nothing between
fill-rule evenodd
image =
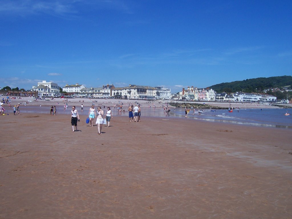
<instances>
[{"instance_id":1,"label":"large white flat-roofed building at left end of the seafront row","mask_svg":"<svg viewBox=\"0 0 292 219\"><path fill-rule=\"evenodd\" d=\"M53 82L38 82L37 86L32 86L32 90L38 92L38 96L58 96L60 94L60 87Z\"/></svg>"}]
</instances>

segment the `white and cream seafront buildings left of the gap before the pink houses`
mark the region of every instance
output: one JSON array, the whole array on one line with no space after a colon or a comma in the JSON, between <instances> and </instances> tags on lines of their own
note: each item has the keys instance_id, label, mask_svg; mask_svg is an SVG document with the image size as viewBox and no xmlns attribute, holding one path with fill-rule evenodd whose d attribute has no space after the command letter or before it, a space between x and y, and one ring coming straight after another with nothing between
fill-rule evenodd
<instances>
[{"instance_id":1,"label":"white and cream seafront buildings left of the gap before the pink houses","mask_svg":"<svg viewBox=\"0 0 292 219\"><path fill-rule=\"evenodd\" d=\"M59 96L60 87L53 82L42 81L37 86L32 86L38 96ZM130 84L127 87L115 87L113 84L102 87L87 88L80 84L66 84L63 91L67 95L92 97L92 98L116 98L116 99L171 99L171 89L164 87L139 86Z\"/></svg>"}]
</instances>

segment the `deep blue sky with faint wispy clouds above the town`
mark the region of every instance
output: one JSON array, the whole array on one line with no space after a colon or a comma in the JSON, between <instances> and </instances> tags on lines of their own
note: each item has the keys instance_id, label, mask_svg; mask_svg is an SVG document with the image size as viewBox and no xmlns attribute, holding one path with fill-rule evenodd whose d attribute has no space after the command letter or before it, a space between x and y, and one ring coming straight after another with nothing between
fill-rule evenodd
<instances>
[{"instance_id":1,"label":"deep blue sky with faint wispy clouds above the town","mask_svg":"<svg viewBox=\"0 0 292 219\"><path fill-rule=\"evenodd\" d=\"M292 75L292 1L0 0L0 86Z\"/></svg>"}]
</instances>

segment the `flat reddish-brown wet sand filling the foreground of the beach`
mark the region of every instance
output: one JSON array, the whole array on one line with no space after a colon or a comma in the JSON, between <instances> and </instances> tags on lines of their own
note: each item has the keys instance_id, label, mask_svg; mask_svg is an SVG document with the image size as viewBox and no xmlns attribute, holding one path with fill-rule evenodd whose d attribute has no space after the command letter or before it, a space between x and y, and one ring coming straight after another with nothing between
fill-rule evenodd
<instances>
[{"instance_id":1,"label":"flat reddish-brown wet sand filling the foreground of the beach","mask_svg":"<svg viewBox=\"0 0 292 219\"><path fill-rule=\"evenodd\" d=\"M291 130L1 116L0 218L291 218Z\"/></svg>"}]
</instances>

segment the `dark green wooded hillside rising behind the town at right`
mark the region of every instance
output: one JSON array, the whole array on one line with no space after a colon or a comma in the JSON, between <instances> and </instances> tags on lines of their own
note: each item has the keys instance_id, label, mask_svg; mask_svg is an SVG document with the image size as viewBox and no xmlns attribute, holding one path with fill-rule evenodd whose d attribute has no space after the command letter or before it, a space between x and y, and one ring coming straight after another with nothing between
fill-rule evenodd
<instances>
[{"instance_id":1,"label":"dark green wooded hillside rising behind the town at right","mask_svg":"<svg viewBox=\"0 0 292 219\"><path fill-rule=\"evenodd\" d=\"M246 79L243 81L215 84L210 86L210 88L217 93L232 93L237 91L253 93L267 88L281 88L284 86L292 86L292 76Z\"/></svg>"}]
</instances>

